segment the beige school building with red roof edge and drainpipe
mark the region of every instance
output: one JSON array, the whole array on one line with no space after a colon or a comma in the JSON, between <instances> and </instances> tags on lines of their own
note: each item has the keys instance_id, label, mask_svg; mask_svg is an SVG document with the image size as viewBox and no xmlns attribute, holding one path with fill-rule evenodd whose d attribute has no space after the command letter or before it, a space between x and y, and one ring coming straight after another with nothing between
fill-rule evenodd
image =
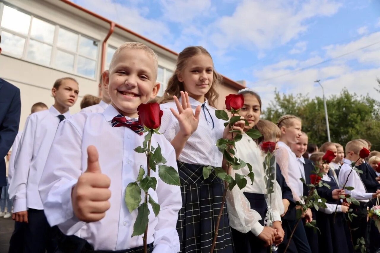
<instances>
[{"instance_id":1,"label":"beige school building with red roof edge and drainpipe","mask_svg":"<svg viewBox=\"0 0 380 253\"><path fill-rule=\"evenodd\" d=\"M79 112L84 95L99 95L100 73L126 41L144 43L157 53L159 95L177 59L176 52L68 0L1 0L0 33L0 77L21 90L20 130L34 103L54 103L51 88L61 77L78 81L79 98L70 111ZM218 108L226 95L244 87L223 76Z\"/></svg>"}]
</instances>

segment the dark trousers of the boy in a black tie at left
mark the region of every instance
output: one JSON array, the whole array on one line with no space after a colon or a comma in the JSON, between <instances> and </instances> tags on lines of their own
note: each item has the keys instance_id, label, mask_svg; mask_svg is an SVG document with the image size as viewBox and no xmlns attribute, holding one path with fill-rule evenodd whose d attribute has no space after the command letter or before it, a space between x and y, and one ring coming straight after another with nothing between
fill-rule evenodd
<instances>
[{"instance_id":1,"label":"dark trousers of the boy in a black tie at left","mask_svg":"<svg viewBox=\"0 0 380 253\"><path fill-rule=\"evenodd\" d=\"M22 253L53 253L57 249L57 239L60 231L57 226L51 227L47 223L44 210L29 209L28 210L28 223L16 224L15 231L12 234L9 253L22 252ZM11 249L18 249L20 238L23 234L24 247L22 251L10 251Z\"/></svg>"}]
</instances>

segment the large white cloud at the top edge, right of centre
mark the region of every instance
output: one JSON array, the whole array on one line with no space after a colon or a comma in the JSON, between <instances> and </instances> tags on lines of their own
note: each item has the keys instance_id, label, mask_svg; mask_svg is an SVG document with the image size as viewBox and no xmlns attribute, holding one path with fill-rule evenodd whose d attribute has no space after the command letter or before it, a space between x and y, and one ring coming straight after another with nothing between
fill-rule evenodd
<instances>
[{"instance_id":1,"label":"large white cloud at the top edge, right of centre","mask_svg":"<svg viewBox=\"0 0 380 253\"><path fill-rule=\"evenodd\" d=\"M211 40L220 48L236 44L268 49L288 43L308 29L312 17L331 16L341 4L332 0L307 2L243 0L231 16L212 25Z\"/></svg>"}]
</instances>

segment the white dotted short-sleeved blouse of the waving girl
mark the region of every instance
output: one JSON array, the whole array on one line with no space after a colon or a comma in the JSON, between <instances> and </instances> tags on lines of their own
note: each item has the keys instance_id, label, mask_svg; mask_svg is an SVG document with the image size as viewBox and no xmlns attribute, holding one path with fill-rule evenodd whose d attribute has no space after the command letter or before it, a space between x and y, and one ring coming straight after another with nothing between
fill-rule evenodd
<instances>
[{"instance_id":1,"label":"white dotted short-sleeved blouse of the waving girl","mask_svg":"<svg viewBox=\"0 0 380 253\"><path fill-rule=\"evenodd\" d=\"M191 97L189 97L189 102L193 112L195 112L198 105L202 105L202 103ZM201 108L198 128L188 138L178 160L183 163L221 167L223 154L218 150L216 141L223 137L225 128L223 123L225 121L215 116L215 108L210 106L207 100L203 104L205 104L206 108ZM161 119L162 132L165 130L164 136L169 141L172 141L179 131L178 120L170 111L170 108L177 111L176 103L172 101L161 104L160 108L164 112ZM212 129L212 121L214 121L214 129Z\"/></svg>"}]
</instances>

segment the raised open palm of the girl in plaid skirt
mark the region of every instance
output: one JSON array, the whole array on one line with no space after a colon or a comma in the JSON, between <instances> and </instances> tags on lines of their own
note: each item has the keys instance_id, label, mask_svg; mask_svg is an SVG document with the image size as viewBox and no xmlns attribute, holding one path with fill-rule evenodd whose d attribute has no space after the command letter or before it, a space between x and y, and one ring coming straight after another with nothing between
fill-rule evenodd
<instances>
[{"instance_id":1,"label":"raised open palm of the girl in plaid skirt","mask_svg":"<svg viewBox=\"0 0 380 253\"><path fill-rule=\"evenodd\" d=\"M176 112L173 108L170 108L170 111L178 120L180 129L179 131L183 134L184 137L189 138L192 133L194 133L196 128L198 128L201 106L197 106L194 113L193 109L191 108L187 92L181 91L181 102L176 96L173 96L173 99L174 102L176 102L178 112Z\"/></svg>"}]
</instances>

